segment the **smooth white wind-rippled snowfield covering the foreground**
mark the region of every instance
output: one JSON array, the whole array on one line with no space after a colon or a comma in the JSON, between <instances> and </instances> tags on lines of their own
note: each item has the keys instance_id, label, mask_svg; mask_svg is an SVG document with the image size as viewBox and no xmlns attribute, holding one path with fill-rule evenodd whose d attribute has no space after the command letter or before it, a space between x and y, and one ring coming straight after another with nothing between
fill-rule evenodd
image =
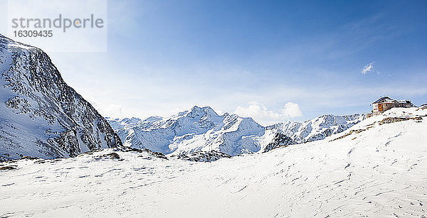
<instances>
[{"instance_id":1,"label":"smooth white wind-rippled snowfield covering the foreground","mask_svg":"<svg viewBox=\"0 0 427 218\"><path fill-rule=\"evenodd\" d=\"M391 109L322 141L212 163L117 148L2 163L16 170L0 170L0 217L421 217L426 114Z\"/></svg>"}]
</instances>

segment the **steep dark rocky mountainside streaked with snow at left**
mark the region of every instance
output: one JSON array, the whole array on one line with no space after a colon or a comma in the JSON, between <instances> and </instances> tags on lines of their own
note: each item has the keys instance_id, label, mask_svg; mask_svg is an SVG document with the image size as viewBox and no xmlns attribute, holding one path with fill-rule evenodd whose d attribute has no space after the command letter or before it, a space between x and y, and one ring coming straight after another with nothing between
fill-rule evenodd
<instances>
[{"instance_id":1,"label":"steep dark rocky mountainside streaked with snow at left","mask_svg":"<svg viewBox=\"0 0 427 218\"><path fill-rule=\"evenodd\" d=\"M73 157L121 145L42 50L0 35L0 74L0 160Z\"/></svg>"}]
</instances>

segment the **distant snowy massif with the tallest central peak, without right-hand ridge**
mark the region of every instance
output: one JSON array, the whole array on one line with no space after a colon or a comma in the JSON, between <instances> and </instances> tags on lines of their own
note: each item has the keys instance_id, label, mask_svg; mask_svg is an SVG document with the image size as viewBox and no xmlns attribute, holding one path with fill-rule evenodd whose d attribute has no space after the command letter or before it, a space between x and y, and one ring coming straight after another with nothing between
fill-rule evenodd
<instances>
[{"instance_id":1,"label":"distant snowy massif with the tallest central peak, without right-hand ridge","mask_svg":"<svg viewBox=\"0 0 427 218\"><path fill-rule=\"evenodd\" d=\"M235 156L259 151L254 137L264 133L264 127L251 118L220 116L210 107L193 107L167 118L107 120L125 146L162 153L220 151Z\"/></svg>"}]
</instances>

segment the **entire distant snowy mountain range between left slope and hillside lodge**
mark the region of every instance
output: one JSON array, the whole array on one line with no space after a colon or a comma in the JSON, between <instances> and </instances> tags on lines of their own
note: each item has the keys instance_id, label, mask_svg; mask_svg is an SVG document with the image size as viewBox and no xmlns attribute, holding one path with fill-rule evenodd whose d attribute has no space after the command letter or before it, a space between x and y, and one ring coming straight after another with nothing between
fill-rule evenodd
<instances>
[{"instance_id":1,"label":"entire distant snowy mountain range between left slope and hillside lodge","mask_svg":"<svg viewBox=\"0 0 427 218\"><path fill-rule=\"evenodd\" d=\"M193 107L167 118L107 118L107 121L125 146L176 155L219 151L236 156L283 146L280 142L284 141L283 136L290 139L286 145L320 140L348 129L364 117L363 114L324 115L302 124L288 121L264 127L251 118L236 114L220 116L211 107Z\"/></svg>"}]
</instances>

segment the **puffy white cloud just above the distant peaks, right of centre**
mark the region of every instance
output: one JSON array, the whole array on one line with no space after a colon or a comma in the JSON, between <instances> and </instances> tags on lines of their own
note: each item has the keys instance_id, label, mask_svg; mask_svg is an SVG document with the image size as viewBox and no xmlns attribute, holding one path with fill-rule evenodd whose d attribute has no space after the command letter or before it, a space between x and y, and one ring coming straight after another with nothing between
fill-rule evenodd
<instances>
[{"instance_id":1,"label":"puffy white cloud just above the distant peaks, right of centre","mask_svg":"<svg viewBox=\"0 0 427 218\"><path fill-rule=\"evenodd\" d=\"M263 104L257 102L251 102L248 107L238 106L234 111L234 114L244 117L252 117L255 121L261 125L275 124L285 119L302 116L300 106L293 102L285 104L280 112L268 110Z\"/></svg>"}]
</instances>

